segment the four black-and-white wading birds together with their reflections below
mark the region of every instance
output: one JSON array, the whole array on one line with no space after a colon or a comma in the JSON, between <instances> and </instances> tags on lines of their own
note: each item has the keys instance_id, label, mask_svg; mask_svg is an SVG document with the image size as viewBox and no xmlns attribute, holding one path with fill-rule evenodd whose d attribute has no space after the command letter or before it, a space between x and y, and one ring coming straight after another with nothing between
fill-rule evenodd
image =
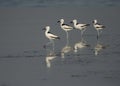
<instances>
[{"instance_id":1,"label":"four black-and-white wading birds together with their reflections below","mask_svg":"<svg viewBox=\"0 0 120 86\"><path fill-rule=\"evenodd\" d=\"M63 29L65 32L66 32L66 39L67 39L67 44L66 46L61 50L61 56L62 58L64 58L64 54L65 53L68 53L69 51L71 51L71 47L68 46L69 44L69 41L68 41L68 32L73 30L73 29L78 29L81 31L81 38L83 36L83 33L84 31L87 29L88 26L90 26L90 24L83 24L83 23L78 23L76 19L72 20L70 23L73 23L73 26L70 26L68 24L65 24L64 23L64 19L60 19L58 21L58 23L60 23L60 27L61 29ZM93 20L93 27L96 29L97 31L97 40L100 36L100 33L102 31L102 29L105 28L104 25L102 24L99 24L97 22L97 20ZM47 46L48 44L52 43L53 44L53 51L54 51L54 40L55 39L60 39L59 36L55 35L55 34L52 34L50 32L50 26L46 26L43 30L45 30L45 36L50 40L50 42L48 42L45 46ZM77 49L78 48L84 48L84 47L88 47L89 45L86 44L86 42L82 39L80 42L76 43L75 46L74 46L74 52L77 52ZM101 49L104 49L105 46L101 45L101 44L97 44L96 47L95 47L95 55L98 55L98 52L101 50ZM47 63L47 66L50 67L51 64L50 64L50 61L52 59L55 58L55 54L53 54L53 52L50 52L50 54L46 57L46 63Z\"/></svg>"}]
</instances>

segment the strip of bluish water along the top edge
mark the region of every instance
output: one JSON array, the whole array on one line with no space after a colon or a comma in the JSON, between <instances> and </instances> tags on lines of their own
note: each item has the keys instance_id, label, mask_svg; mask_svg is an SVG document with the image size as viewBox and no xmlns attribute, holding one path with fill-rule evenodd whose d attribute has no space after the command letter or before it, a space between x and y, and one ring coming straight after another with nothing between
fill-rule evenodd
<instances>
[{"instance_id":1,"label":"strip of bluish water along the top edge","mask_svg":"<svg viewBox=\"0 0 120 86\"><path fill-rule=\"evenodd\" d=\"M120 0L0 0L0 7L120 6Z\"/></svg>"}]
</instances>

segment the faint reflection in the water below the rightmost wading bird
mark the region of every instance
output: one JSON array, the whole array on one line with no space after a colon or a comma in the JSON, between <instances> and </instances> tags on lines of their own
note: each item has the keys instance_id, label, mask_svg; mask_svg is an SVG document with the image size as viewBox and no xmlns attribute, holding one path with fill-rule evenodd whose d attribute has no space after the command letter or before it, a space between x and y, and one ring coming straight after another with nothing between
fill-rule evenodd
<instances>
[{"instance_id":1,"label":"faint reflection in the water below the rightmost wading bird","mask_svg":"<svg viewBox=\"0 0 120 86\"><path fill-rule=\"evenodd\" d=\"M103 43L100 43L100 41L99 40L97 40L97 44L96 44L96 46L95 46L95 48L94 48L94 50L95 50L95 55L97 56L102 50L104 50L104 49L106 49L106 48L108 48L109 46L108 45L105 45L105 44L103 44Z\"/></svg>"}]
</instances>

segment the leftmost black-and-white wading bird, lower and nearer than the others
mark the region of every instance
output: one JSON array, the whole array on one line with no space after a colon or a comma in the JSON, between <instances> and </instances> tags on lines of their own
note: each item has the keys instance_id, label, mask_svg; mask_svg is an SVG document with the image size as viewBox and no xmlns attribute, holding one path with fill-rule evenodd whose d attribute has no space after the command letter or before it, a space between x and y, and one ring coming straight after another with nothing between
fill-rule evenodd
<instances>
[{"instance_id":1,"label":"leftmost black-and-white wading bird, lower and nearer than the others","mask_svg":"<svg viewBox=\"0 0 120 86\"><path fill-rule=\"evenodd\" d=\"M46 30L45 31L45 36L50 40L50 42L47 43L50 44L52 43L53 44L53 51L54 51L54 39L60 39L60 37L58 37L57 35L54 35L50 32L50 26L46 26L43 30Z\"/></svg>"}]
</instances>

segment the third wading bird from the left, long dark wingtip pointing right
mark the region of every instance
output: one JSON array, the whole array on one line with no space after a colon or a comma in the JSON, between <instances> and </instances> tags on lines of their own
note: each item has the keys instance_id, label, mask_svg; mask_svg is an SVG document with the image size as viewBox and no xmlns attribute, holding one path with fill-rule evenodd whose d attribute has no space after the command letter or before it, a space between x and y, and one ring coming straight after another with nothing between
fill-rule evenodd
<instances>
[{"instance_id":1,"label":"third wading bird from the left, long dark wingtip pointing right","mask_svg":"<svg viewBox=\"0 0 120 86\"><path fill-rule=\"evenodd\" d=\"M77 23L76 19L72 20L70 23L73 23L74 27L76 29L81 30L81 37L83 35L83 32L86 30L87 26L90 26L90 24L80 24L80 23Z\"/></svg>"}]
</instances>

